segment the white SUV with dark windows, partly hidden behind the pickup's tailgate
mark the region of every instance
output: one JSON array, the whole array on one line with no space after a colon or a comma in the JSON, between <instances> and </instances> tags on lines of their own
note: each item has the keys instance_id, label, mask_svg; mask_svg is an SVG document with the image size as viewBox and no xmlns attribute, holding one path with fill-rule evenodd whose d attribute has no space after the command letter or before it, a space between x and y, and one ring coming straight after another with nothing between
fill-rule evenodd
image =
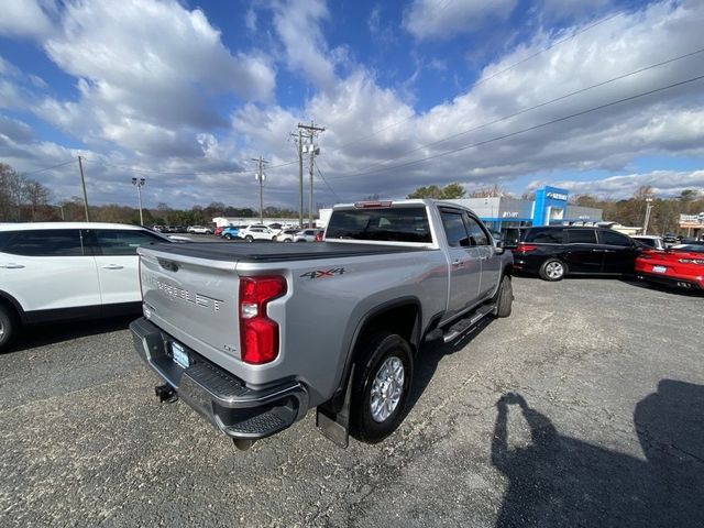
<instances>
[{"instance_id":1,"label":"white SUV with dark windows, partly hidden behind the pickup's tailgate","mask_svg":"<svg viewBox=\"0 0 704 528\"><path fill-rule=\"evenodd\" d=\"M0 226L0 349L22 324L139 314L143 244L173 243L136 226Z\"/></svg>"}]
</instances>

